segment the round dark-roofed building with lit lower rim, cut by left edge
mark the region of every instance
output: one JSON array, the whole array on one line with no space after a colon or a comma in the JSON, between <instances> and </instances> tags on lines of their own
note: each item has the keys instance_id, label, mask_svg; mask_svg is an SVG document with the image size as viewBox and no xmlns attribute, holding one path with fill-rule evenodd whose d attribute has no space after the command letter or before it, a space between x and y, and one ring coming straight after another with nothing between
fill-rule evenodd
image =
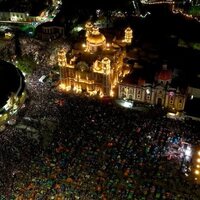
<instances>
[{"instance_id":1,"label":"round dark-roofed building with lit lower rim, cut by left edge","mask_svg":"<svg viewBox=\"0 0 200 200\"><path fill-rule=\"evenodd\" d=\"M11 63L0 61L0 130L24 103L24 76Z\"/></svg>"}]
</instances>

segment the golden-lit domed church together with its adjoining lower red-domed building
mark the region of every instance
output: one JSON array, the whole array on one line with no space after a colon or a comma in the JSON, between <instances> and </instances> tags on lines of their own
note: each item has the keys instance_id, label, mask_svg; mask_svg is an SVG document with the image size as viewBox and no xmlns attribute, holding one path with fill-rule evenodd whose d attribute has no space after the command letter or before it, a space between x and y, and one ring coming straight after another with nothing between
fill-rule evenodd
<instances>
[{"instance_id":1,"label":"golden-lit domed church together with its adjoining lower red-domed building","mask_svg":"<svg viewBox=\"0 0 200 200\"><path fill-rule=\"evenodd\" d=\"M184 110L186 95L170 87L172 71L163 65L154 83L126 83L131 67L124 63L126 47L132 43L133 31L124 30L120 39L107 40L91 22L85 25L85 42L74 45L71 51L58 52L62 91L89 95L110 96L152 105L160 105L171 112Z\"/></svg>"}]
</instances>

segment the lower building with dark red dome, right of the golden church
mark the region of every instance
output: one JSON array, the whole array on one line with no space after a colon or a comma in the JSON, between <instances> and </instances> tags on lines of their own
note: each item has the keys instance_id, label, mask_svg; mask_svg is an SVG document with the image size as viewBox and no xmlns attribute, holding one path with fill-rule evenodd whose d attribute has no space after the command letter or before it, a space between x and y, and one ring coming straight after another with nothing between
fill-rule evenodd
<instances>
[{"instance_id":1,"label":"lower building with dark red dome, right of the golden church","mask_svg":"<svg viewBox=\"0 0 200 200\"><path fill-rule=\"evenodd\" d=\"M156 83L127 84L122 82L118 87L118 97L131 99L168 108L171 112L184 110L186 95L179 89L169 87L172 72L163 65L163 69L156 75Z\"/></svg>"}]
</instances>

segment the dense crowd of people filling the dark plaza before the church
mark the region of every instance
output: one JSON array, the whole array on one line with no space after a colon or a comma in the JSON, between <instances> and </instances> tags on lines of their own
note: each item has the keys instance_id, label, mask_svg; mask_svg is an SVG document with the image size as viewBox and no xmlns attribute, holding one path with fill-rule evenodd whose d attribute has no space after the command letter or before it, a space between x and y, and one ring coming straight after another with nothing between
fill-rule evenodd
<instances>
[{"instance_id":1,"label":"dense crowd of people filling the dark plaza before the church","mask_svg":"<svg viewBox=\"0 0 200 200\"><path fill-rule=\"evenodd\" d=\"M174 137L198 145L199 122L62 93L38 81L49 70L27 77L28 99L17 116L17 124L29 118L38 136L17 124L0 135L0 199L200 198L180 160L165 156ZM56 128L50 131L41 119Z\"/></svg>"}]
</instances>

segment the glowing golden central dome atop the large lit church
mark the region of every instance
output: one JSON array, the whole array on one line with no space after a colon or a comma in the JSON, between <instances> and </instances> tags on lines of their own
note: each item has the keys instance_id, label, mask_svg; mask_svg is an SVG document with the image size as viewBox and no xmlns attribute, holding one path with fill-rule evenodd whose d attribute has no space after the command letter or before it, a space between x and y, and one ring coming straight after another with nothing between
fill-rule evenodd
<instances>
[{"instance_id":1,"label":"glowing golden central dome atop the large lit church","mask_svg":"<svg viewBox=\"0 0 200 200\"><path fill-rule=\"evenodd\" d=\"M106 38L97 28L93 28L93 31L87 37L87 42L91 45L100 46L106 42Z\"/></svg>"}]
</instances>

